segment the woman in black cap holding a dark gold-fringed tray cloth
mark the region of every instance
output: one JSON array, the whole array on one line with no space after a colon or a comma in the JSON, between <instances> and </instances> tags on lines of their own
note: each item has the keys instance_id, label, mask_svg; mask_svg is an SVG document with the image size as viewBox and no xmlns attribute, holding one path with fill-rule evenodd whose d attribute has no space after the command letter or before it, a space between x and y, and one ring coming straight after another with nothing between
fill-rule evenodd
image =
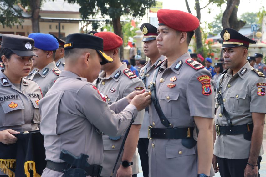
<instances>
[{"instance_id":1,"label":"woman in black cap holding a dark gold-fringed tray cloth","mask_svg":"<svg viewBox=\"0 0 266 177\"><path fill-rule=\"evenodd\" d=\"M37 56L33 46L31 38L3 35L0 49L4 68L0 71L0 142L4 144L15 143L14 134L38 130L42 95L39 86L25 78L32 67L32 56ZM7 173L5 169L8 167L1 159L0 176L6 176L4 171Z\"/></svg>"}]
</instances>

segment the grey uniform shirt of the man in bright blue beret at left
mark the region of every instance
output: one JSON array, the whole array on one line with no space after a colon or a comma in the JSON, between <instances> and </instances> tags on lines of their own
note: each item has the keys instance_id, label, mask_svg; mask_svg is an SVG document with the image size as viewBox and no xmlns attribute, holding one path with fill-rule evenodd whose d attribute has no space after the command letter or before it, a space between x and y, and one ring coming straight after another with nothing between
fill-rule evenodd
<instances>
[{"instance_id":1,"label":"grey uniform shirt of the man in bright blue beret at left","mask_svg":"<svg viewBox=\"0 0 266 177\"><path fill-rule=\"evenodd\" d=\"M61 71L55 66L53 61L28 78L32 79L40 86L44 97L47 91L54 85L60 73Z\"/></svg>"}]
</instances>

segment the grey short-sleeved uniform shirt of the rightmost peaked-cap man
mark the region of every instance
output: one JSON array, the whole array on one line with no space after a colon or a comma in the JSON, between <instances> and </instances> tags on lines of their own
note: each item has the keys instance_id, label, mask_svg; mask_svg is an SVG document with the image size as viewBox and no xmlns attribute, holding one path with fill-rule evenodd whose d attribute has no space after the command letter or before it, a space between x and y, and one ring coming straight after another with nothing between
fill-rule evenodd
<instances>
[{"instance_id":1,"label":"grey short-sleeved uniform shirt of the rightmost peaked-cap man","mask_svg":"<svg viewBox=\"0 0 266 177\"><path fill-rule=\"evenodd\" d=\"M234 76L228 69L222 82L221 94L223 105L228 112L232 124L252 123L252 113L266 113L265 85L266 79L259 77L254 68L247 62ZM217 97L217 96L216 96ZM218 107L218 103L215 104ZM228 126L226 117L220 107L215 115L215 124ZM214 155L227 159L246 159L249 157L251 141L240 135L216 135ZM259 155L263 154L263 148Z\"/></svg>"}]
</instances>

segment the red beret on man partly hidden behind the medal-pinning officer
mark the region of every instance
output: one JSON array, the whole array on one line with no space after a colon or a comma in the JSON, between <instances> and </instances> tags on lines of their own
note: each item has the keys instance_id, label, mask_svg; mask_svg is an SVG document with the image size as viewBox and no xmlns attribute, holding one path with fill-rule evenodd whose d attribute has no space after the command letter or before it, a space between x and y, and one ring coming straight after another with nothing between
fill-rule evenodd
<instances>
[{"instance_id":1,"label":"red beret on man partly hidden behind the medal-pinning officer","mask_svg":"<svg viewBox=\"0 0 266 177\"><path fill-rule=\"evenodd\" d=\"M119 48L123 44L122 38L112 32L99 32L95 33L94 36L98 36L104 40L104 51Z\"/></svg>"}]
</instances>

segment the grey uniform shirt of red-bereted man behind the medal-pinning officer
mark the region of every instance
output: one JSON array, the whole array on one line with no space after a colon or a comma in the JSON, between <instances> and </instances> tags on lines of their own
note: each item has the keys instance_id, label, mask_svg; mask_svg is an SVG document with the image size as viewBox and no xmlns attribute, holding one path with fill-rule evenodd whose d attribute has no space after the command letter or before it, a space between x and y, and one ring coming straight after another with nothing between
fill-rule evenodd
<instances>
[{"instance_id":1,"label":"grey uniform shirt of red-bereted man behind the medal-pinning officer","mask_svg":"<svg viewBox=\"0 0 266 177\"><path fill-rule=\"evenodd\" d=\"M105 78L105 71L101 72L99 75L99 81L96 87L100 90L102 94L105 95L106 102L110 105L114 102L116 102L119 99L122 99L126 97L128 94L133 92L134 90L143 90L144 84L141 82L141 80L138 77L135 78L129 78L123 71L129 70L126 66L126 63L122 62L123 65L120 66L118 69L115 70L115 72L108 78ZM94 81L94 84L96 84L96 81ZM136 117L133 124L142 124L143 116L144 116L145 110L138 112L138 116ZM122 141L124 139L124 134L122 137L118 140L111 140L112 137L109 137L107 135L103 135L103 143L104 143L104 161L102 163L103 169L101 176L109 177L117 158L117 155L119 153L119 149L121 147ZM116 165L115 171L113 176L116 175L117 169L121 165L121 160L123 156L123 151L120 155L120 159L118 160L118 163ZM139 173L139 166L138 166L138 152L137 149L135 150L135 154L132 159L133 165L132 167L132 173L137 174Z\"/></svg>"}]
</instances>

